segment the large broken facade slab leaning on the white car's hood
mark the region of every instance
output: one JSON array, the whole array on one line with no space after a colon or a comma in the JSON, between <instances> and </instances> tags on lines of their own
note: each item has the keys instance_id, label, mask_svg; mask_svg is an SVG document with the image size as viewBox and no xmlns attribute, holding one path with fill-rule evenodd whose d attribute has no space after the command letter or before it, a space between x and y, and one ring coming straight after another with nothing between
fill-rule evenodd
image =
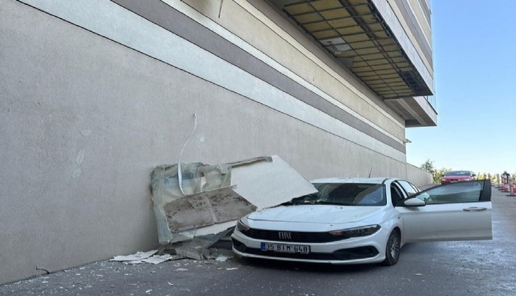
<instances>
[{"instance_id":1,"label":"large broken facade slab leaning on the white car's hood","mask_svg":"<svg viewBox=\"0 0 516 296\"><path fill-rule=\"evenodd\" d=\"M317 192L275 155L156 166L151 185L160 244L197 260L207 257L206 248L231 233L239 218Z\"/></svg>"}]
</instances>

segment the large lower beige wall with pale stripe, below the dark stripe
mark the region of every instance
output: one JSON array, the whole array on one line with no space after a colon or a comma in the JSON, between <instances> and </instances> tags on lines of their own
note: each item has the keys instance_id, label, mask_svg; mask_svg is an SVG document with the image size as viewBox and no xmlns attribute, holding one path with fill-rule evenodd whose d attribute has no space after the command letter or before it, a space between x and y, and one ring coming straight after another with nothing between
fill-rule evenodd
<instances>
[{"instance_id":1,"label":"large lower beige wall with pale stripe, below the dark stripe","mask_svg":"<svg viewBox=\"0 0 516 296\"><path fill-rule=\"evenodd\" d=\"M0 283L155 247L149 173L194 113L184 162L407 176L404 151L113 2L26 2L0 0Z\"/></svg>"}]
</instances>

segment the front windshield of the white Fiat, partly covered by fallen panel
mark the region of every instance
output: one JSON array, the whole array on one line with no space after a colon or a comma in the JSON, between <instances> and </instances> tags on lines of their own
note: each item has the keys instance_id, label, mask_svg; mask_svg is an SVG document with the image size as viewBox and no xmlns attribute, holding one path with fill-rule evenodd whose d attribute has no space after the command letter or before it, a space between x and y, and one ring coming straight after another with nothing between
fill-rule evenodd
<instances>
[{"instance_id":1,"label":"front windshield of the white Fiat, partly covered by fallen panel","mask_svg":"<svg viewBox=\"0 0 516 296\"><path fill-rule=\"evenodd\" d=\"M386 205L382 184L316 183L319 192L294 198L291 204Z\"/></svg>"}]
</instances>

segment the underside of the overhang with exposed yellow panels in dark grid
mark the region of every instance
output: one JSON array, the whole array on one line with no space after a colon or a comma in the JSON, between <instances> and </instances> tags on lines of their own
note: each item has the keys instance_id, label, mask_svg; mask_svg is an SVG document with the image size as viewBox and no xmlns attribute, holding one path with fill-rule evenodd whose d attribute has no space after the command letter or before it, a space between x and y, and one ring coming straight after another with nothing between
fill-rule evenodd
<instances>
[{"instance_id":1,"label":"underside of the overhang with exposed yellow panels in dark grid","mask_svg":"<svg viewBox=\"0 0 516 296\"><path fill-rule=\"evenodd\" d=\"M372 2L271 2L381 98L432 95Z\"/></svg>"}]
</instances>

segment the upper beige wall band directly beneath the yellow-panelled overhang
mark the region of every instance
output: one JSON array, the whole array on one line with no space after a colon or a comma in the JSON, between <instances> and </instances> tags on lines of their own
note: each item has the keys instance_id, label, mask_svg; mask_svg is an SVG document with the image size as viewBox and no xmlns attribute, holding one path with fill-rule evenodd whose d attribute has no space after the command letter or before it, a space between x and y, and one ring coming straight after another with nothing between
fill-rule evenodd
<instances>
[{"instance_id":1,"label":"upper beige wall band directly beneath the yellow-panelled overhang","mask_svg":"<svg viewBox=\"0 0 516 296\"><path fill-rule=\"evenodd\" d=\"M165 2L184 13L189 11L176 1ZM354 75L343 70L341 65L328 59L326 52L314 46L312 40L303 36L271 6L260 5L259 7L264 10L262 12L252 5L258 5L256 2L259 1L183 2L242 38L315 88L321 89L331 98L364 116L385 133L391 134L399 141L404 140L404 120L394 112L389 112L390 108L372 91L358 82ZM338 72L334 69L338 69Z\"/></svg>"}]
</instances>

